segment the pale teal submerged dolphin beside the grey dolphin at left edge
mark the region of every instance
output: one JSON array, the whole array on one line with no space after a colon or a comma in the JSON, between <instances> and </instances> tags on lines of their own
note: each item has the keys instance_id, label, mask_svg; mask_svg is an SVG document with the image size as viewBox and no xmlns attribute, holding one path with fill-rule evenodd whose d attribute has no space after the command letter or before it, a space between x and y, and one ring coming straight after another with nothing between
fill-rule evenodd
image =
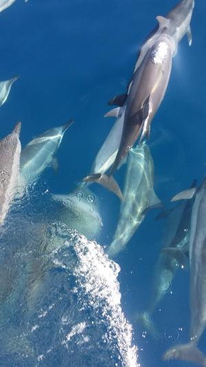
<instances>
[{"instance_id":1,"label":"pale teal submerged dolphin beside the grey dolphin at left edge","mask_svg":"<svg viewBox=\"0 0 206 367\"><path fill-rule=\"evenodd\" d=\"M55 154L62 137L72 123L71 120L65 125L43 132L21 151L20 173L25 184L34 182L48 165L53 164L54 169L57 169Z\"/></svg>"}]
</instances>

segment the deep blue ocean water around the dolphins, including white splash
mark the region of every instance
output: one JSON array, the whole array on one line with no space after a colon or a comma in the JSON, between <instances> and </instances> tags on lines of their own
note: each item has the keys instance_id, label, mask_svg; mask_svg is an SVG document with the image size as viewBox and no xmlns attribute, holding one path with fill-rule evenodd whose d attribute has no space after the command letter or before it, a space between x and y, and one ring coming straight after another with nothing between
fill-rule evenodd
<instances>
[{"instance_id":1,"label":"deep blue ocean water around the dolphins, including white splash","mask_svg":"<svg viewBox=\"0 0 206 367\"><path fill-rule=\"evenodd\" d=\"M0 80L20 76L0 110L1 137L21 120L24 147L46 129L74 120L58 149L58 174L45 171L30 202L25 198L11 210L1 233L1 279L11 261L14 271L11 266L12 296L1 304L0 366L137 366L133 346L142 367L192 366L162 361L165 350L186 342L190 332L188 269L178 271L155 311L160 340L135 322L150 297L162 245L164 221L155 221L158 211L148 213L117 264L106 260L103 247L78 239L62 224L54 225L54 219L43 224L54 209L50 193L69 193L88 174L113 125L112 118L103 117L107 101L125 91L155 17L174 5L172 0L16 0L0 14ZM152 121L155 191L165 207L194 178L201 182L205 175L205 11L205 1L196 1L192 46L186 37L181 41L168 90ZM124 174L122 167L115 175L121 186ZM107 246L119 200L98 185L92 190L103 222L98 243ZM44 244L39 247L47 231L62 239L57 253L43 251ZM51 251L56 266L49 265ZM109 287L114 294L100 296ZM206 353L204 335L200 348Z\"/></svg>"}]
</instances>

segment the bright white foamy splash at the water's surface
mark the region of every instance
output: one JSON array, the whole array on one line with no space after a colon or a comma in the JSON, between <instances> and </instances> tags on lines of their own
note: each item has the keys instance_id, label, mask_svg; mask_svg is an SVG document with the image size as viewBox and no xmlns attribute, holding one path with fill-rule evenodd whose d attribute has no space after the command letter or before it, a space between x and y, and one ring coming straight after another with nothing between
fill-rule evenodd
<instances>
[{"instance_id":1,"label":"bright white foamy splash at the water's surface","mask_svg":"<svg viewBox=\"0 0 206 367\"><path fill-rule=\"evenodd\" d=\"M119 359L124 367L137 367L137 347L133 346L132 326L126 321L121 307L121 293L117 275L120 271L118 264L104 254L102 247L96 242L89 242L80 235L74 242L79 266L74 273L78 285L85 295L87 304L106 319L107 330L104 342L114 340L119 349Z\"/></svg>"}]
</instances>

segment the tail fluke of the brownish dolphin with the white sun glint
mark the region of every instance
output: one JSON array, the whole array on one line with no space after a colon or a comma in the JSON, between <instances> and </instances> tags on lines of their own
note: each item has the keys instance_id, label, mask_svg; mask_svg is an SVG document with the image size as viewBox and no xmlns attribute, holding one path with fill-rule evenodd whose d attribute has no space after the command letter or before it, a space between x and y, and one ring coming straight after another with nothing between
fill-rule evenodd
<instances>
[{"instance_id":1,"label":"tail fluke of the brownish dolphin with the white sun glint","mask_svg":"<svg viewBox=\"0 0 206 367\"><path fill-rule=\"evenodd\" d=\"M120 200L124 200L122 191L113 176L107 176L106 174L91 174L90 176L83 178L83 181L97 182L109 191L115 193Z\"/></svg>"}]
</instances>

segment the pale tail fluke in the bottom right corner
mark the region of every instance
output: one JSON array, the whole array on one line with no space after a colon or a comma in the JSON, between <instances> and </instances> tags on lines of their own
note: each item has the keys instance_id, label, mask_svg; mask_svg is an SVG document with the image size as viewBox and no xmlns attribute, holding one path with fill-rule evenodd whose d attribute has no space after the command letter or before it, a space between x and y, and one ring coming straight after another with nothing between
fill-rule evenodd
<instances>
[{"instance_id":1,"label":"pale tail fluke in the bottom right corner","mask_svg":"<svg viewBox=\"0 0 206 367\"><path fill-rule=\"evenodd\" d=\"M173 346L163 355L163 359L165 361L169 361L170 359L181 359L206 367L206 357L201 350L197 348L194 342Z\"/></svg>"}]
</instances>

